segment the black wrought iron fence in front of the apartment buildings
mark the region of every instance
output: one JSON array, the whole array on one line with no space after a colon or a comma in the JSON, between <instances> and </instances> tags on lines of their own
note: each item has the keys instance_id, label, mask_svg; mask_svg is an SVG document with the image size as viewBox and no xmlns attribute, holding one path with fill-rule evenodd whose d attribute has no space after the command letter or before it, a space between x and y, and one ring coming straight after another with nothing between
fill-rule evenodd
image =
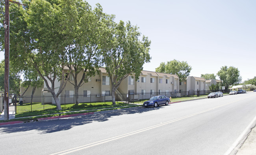
<instances>
[{"instance_id":1,"label":"black wrought iron fence in front of the apartment buildings","mask_svg":"<svg viewBox=\"0 0 256 155\"><path fill-rule=\"evenodd\" d=\"M222 91L228 93L229 90ZM135 103L137 101L144 101L150 99L152 96L164 95L167 97L195 97L208 95L210 90L193 90L193 91L181 91L181 92L155 92L155 93L132 93L121 94L115 96L117 104ZM120 95L120 94L119 94ZM56 110L56 103L51 95L42 96L21 96L17 98L19 103L16 104L16 113L24 112L38 112ZM78 94L78 95L60 95L58 96L61 108L63 110L70 108L82 108L87 106L101 106L112 105L111 94Z\"/></svg>"}]
</instances>

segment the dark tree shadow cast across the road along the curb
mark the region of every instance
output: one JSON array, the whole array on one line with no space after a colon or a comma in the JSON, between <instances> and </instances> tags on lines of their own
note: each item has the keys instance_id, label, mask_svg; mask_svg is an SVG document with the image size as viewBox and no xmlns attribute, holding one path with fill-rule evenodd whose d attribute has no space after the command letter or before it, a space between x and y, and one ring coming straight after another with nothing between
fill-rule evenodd
<instances>
[{"instance_id":1,"label":"dark tree shadow cast across the road along the curb","mask_svg":"<svg viewBox=\"0 0 256 155\"><path fill-rule=\"evenodd\" d=\"M77 117L67 117L65 119L54 119L49 121L39 121L33 123L22 123L9 126L0 126L0 132L4 133L14 133L14 132L26 132L30 130L37 130L41 134L53 133L63 130L69 130L74 126L80 126L84 124L89 124L92 122L104 122L108 121L109 118L113 116L126 115L126 114L140 114L144 112L159 110L163 108L162 106L157 107L135 107L135 108L125 108L119 110L109 110L102 112L95 112L91 115L83 115Z\"/></svg>"}]
</instances>

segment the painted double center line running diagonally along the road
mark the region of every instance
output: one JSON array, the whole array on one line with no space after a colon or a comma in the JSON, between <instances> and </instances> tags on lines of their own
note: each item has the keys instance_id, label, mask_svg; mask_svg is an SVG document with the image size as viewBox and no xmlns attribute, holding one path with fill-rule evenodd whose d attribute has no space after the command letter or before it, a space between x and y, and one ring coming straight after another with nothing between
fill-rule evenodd
<instances>
[{"instance_id":1,"label":"painted double center line running diagonally along the road","mask_svg":"<svg viewBox=\"0 0 256 155\"><path fill-rule=\"evenodd\" d=\"M242 99L241 99L242 100ZM243 99L244 100L244 99ZM237 100L237 101L240 101L240 100ZM115 137L112 137L112 138L109 138L109 139L104 139L102 141L98 141L98 142L93 142L91 144L86 144L86 145L83 145L83 146L78 146L76 148L71 148L71 149L68 149L68 150L65 150L65 151L60 151L60 152L57 152L57 153L53 153L53 154L50 154L50 155L65 155L65 154L68 154L68 153L72 153L72 152L75 152L75 151L80 151L80 150L83 150L83 149L86 149L86 148L90 148L90 147L93 147L93 146L97 146L97 145L100 145L100 144L104 144L106 142L110 142L110 141L114 141L114 140L117 140L117 139L121 139L121 138L124 138L124 137L128 137L130 135L135 135L137 133L141 133L141 132L145 132L147 130L151 130L151 129L154 129L154 128L158 128L160 126L163 126L163 125L166 125L166 124L169 124L169 123L173 123L173 122L176 122L176 121L180 121L182 119L186 119L188 117L192 117L192 116L195 116L195 115L198 115L198 114L202 114L204 112L208 112L210 110L213 110L213 109L216 109L216 108L219 108L219 107L222 107L222 106L225 106L225 105L229 105L231 103L234 103L234 102L237 102L237 101L232 101L232 102L229 102L229 103L226 103L226 104L223 104L223 105L219 105L219 106L215 106L213 108L210 108L210 109L207 109L207 110L203 110L203 111L200 111L200 112L197 112L197 113L194 113L194 114L190 114L190 115L187 115L187 116L184 116L184 117L180 117L178 119L174 119L174 120L171 120L171 121L167 121L165 123L161 123L161 124L157 124L157 125L154 125L154 126L150 126L148 128L144 128L144 129L141 129L141 130L137 130L137 131L134 131L134 132L130 132L130 133L126 133L126 134L123 134L123 135L119 135L119 136L115 136Z\"/></svg>"}]
</instances>

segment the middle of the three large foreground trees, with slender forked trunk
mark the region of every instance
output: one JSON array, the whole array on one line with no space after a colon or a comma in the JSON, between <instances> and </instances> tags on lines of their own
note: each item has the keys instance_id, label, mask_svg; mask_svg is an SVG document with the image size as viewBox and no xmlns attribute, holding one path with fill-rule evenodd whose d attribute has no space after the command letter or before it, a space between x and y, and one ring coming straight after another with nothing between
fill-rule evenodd
<instances>
[{"instance_id":1,"label":"middle of the three large foreground trees, with slender forked trunk","mask_svg":"<svg viewBox=\"0 0 256 155\"><path fill-rule=\"evenodd\" d=\"M106 14L102 13L102 7L97 4L92 11L88 4L82 6L82 10L78 11L78 27L76 36L74 36L73 44L69 46L67 52L67 64L72 69L69 82L74 86L76 96L76 104L78 101L79 88L88 81L89 77L95 76L100 63L100 39L104 32L102 18L106 18ZM78 74L82 73L82 78L78 79Z\"/></svg>"}]
</instances>

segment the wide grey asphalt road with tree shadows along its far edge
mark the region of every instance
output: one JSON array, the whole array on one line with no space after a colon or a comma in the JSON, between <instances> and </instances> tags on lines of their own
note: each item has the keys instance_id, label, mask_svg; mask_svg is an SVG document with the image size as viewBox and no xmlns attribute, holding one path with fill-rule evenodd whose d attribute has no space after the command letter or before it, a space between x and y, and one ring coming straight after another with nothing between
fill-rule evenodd
<instances>
[{"instance_id":1,"label":"wide grey asphalt road with tree shadows along its far edge","mask_svg":"<svg viewBox=\"0 0 256 155\"><path fill-rule=\"evenodd\" d=\"M0 127L0 153L228 155L255 124L256 93Z\"/></svg>"}]
</instances>

